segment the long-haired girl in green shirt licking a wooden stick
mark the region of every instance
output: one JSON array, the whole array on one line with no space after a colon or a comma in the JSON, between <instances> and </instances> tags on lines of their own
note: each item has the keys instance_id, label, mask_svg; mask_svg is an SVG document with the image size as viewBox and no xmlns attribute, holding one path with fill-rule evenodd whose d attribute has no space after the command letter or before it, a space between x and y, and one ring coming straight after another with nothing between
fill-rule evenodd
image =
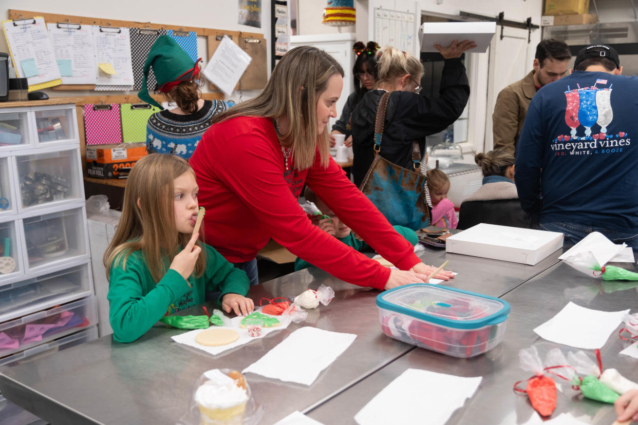
<instances>
[{"instance_id":1,"label":"long-haired girl in green shirt licking a wooden stick","mask_svg":"<svg viewBox=\"0 0 638 425\"><path fill-rule=\"evenodd\" d=\"M140 159L126 182L115 236L104 254L109 321L118 342L133 342L163 315L204 302L219 291L226 312L247 315L254 304L244 271L198 241L197 182L175 155ZM203 229L200 229L203 234Z\"/></svg>"}]
</instances>

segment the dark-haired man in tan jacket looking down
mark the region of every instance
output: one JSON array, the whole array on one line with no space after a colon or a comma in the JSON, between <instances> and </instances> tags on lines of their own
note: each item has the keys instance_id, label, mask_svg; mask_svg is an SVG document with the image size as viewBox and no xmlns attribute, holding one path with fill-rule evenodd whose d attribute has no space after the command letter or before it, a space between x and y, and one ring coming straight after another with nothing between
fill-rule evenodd
<instances>
[{"instance_id":1,"label":"dark-haired man in tan jacket looking down","mask_svg":"<svg viewBox=\"0 0 638 425\"><path fill-rule=\"evenodd\" d=\"M563 41L545 38L538 43L532 71L523 80L505 87L496 98L492 115L494 149L507 149L514 154L531 98L545 84L567 74L571 57Z\"/></svg>"}]
</instances>

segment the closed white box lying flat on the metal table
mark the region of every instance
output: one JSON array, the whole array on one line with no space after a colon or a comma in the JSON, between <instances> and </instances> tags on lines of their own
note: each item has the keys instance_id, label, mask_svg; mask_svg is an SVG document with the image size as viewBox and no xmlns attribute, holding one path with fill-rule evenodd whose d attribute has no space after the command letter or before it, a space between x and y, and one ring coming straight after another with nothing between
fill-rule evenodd
<instances>
[{"instance_id":1,"label":"closed white box lying flat on the metal table","mask_svg":"<svg viewBox=\"0 0 638 425\"><path fill-rule=\"evenodd\" d=\"M445 240L447 252L532 266L561 247L562 233L485 223Z\"/></svg>"}]
</instances>

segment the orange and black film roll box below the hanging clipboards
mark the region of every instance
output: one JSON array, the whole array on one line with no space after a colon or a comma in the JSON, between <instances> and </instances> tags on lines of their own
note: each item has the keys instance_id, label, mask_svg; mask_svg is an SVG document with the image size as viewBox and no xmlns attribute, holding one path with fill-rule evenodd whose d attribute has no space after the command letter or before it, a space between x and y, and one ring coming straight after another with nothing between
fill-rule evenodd
<instances>
[{"instance_id":1,"label":"orange and black film roll box below the hanging clipboards","mask_svg":"<svg viewBox=\"0 0 638 425\"><path fill-rule=\"evenodd\" d=\"M145 143L87 146L86 172L95 178L126 178L130 168L146 154Z\"/></svg>"}]
</instances>

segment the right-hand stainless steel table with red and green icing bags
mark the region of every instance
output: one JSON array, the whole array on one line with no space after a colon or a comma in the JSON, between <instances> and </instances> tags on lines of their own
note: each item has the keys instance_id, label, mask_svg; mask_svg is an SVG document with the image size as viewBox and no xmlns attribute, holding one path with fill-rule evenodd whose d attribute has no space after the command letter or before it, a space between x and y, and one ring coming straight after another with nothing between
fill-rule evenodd
<instances>
[{"instance_id":1,"label":"right-hand stainless steel table with red and green icing bags","mask_svg":"<svg viewBox=\"0 0 638 425\"><path fill-rule=\"evenodd\" d=\"M634 269L635 264L618 264ZM618 311L638 307L638 282L601 282L559 263L541 275L505 294L512 306L503 342L486 354L471 359L456 359L424 349L415 348L380 371L343 391L337 397L311 410L308 415L325 424L355 423L353 417L379 391L407 368L418 368L463 377L482 376L477 393L463 408L450 417L447 424L524 424L535 414L524 394L512 390L517 380L530 376L519 367L518 352L536 345L544 357L554 347L577 350L543 340L533 328L558 313L568 301L595 310ZM618 290L623 289L623 290ZM612 333L601 349L605 368L616 368L625 377L638 378L638 360L619 356L627 342ZM586 350L593 358L593 350ZM565 385L567 386L567 385ZM558 394L554 415L570 412L586 415L593 424L609 425L615 420L613 407L591 400L570 400Z\"/></svg>"}]
</instances>

